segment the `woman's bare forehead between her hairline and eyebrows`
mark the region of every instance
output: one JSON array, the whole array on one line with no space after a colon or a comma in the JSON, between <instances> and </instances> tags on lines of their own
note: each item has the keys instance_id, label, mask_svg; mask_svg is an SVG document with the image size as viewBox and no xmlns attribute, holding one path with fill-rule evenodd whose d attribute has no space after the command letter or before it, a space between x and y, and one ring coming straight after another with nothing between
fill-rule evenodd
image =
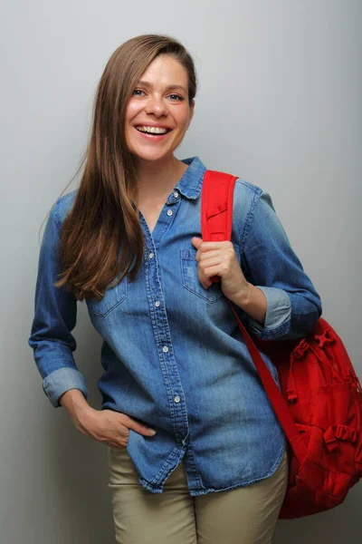
<instances>
[{"instance_id":1,"label":"woman's bare forehead between her hairline and eyebrows","mask_svg":"<svg viewBox=\"0 0 362 544\"><path fill-rule=\"evenodd\" d=\"M142 80L149 83L173 83L187 85L187 72L182 64L170 54L160 54L148 64L147 69L142 73Z\"/></svg>"}]
</instances>

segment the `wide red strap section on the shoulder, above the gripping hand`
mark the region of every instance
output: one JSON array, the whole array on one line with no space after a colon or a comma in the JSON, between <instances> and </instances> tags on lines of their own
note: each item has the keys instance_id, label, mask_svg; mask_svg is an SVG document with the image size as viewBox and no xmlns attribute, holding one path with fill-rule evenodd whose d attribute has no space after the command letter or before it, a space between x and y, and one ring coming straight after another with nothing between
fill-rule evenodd
<instances>
[{"instance_id":1,"label":"wide red strap section on the shoulder, above the gripping hand","mask_svg":"<svg viewBox=\"0 0 362 544\"><path fill-rule=\"evenodd\" d=\"M205 242L230 240L233 224L233 187L236 176L206 170L201 198L201 232Z\"/></svg>"}]
</instances>

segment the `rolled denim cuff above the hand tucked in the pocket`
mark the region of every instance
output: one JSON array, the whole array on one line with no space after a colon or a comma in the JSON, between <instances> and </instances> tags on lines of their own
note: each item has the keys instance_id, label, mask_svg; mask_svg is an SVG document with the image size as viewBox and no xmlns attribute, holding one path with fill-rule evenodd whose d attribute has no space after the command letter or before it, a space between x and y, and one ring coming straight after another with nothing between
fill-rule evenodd
<instances>
[{"instance_id":1,"label":"rolled denim cuff above the hand tucked in the pocket","mask_svg":"<svg viewBox=\"0 0 362 544\"><path fill-rule=\"evenodd\" d=\"M62 405L58 399L69 389L79 389L87 398L88 390L83 374L69 366L63 366L43 379L43 392L55 408Z\"/></svg>"}]
</instances>

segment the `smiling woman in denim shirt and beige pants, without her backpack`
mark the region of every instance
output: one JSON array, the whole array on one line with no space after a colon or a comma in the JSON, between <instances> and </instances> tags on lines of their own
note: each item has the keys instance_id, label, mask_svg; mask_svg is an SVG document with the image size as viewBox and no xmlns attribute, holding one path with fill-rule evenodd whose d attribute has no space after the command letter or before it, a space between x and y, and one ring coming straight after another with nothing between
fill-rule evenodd
<instances>
[{"instance_id":1,"label":"smiling woman in denim shirt and beige pants, without her backpack","mask_svg":"<svg viewBox=\"0 0 362 544\"><path fill-rule=\"evenodd\" d=\"M111 55L80 188L52 208L39 258L29 345L52 405L108 446L122 544L271 542L285 439L224 296L265 339L302 337L321 314L262 189L237 180L232 241L202 241L206 168L174 155L195 93L172 38ZM100 411L72 356L83 299L103 338Z\"/></svg>"}]
</instances>

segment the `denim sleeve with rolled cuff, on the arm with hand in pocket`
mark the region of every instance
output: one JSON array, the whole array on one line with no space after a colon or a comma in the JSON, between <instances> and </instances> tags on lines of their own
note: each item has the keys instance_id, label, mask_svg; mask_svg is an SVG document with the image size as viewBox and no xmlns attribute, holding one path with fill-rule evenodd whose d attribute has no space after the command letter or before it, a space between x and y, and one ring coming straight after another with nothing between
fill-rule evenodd
<instances>
[{"instance_id":1,"label":"denim sleeve with rolled cuff, on the arm with hand in pocket","mask_svg":"<svg viewBox=\"0 0 362 544\"><path fill-rule=\"evenodd\" d=\"M76 324L77 301L63 288L54 287L60 272L60 220L58 200L47 220L38 262L34 317L28 344L43 378L43 391L54 407L70 389L87 398L84 376L74 363L76 342L71 330Z\"/></svg>"}]
</instances>

